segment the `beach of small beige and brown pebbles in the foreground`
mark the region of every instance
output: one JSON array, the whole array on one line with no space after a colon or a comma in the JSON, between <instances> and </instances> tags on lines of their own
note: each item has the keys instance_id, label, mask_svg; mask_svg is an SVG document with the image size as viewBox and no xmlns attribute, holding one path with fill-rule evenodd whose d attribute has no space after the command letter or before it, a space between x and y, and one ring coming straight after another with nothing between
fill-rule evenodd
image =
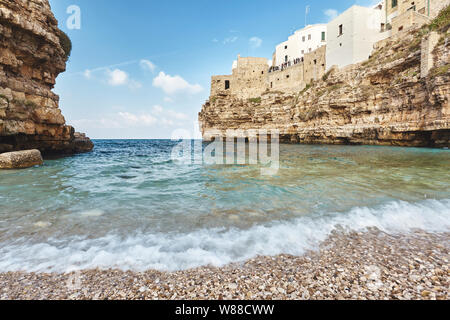
<instances>
[{"instance_id":1,"label":"beach of small beige and brown pebbles in the foreground","mask_svg":"<svg viewBox=\"0 0 450 320\"><path fill-rule=\"evenodd\" d=\"M334 232L301 257L257 257L178 272L0 274L0 299L449 299L450 233Z\"/></svg>"}]
</instances>

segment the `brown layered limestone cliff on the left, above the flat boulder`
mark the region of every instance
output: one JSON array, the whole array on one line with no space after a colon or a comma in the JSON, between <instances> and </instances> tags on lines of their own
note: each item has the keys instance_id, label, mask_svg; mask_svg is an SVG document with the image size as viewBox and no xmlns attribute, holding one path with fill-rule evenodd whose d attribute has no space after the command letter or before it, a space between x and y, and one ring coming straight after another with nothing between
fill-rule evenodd
<instances>
[{"instance_id":1,"label":"brown layered limestone cliff on the left, above the flat boulder","mask_svg":"<svg viewBox=\"0 0 450 320\"><path fill-rule=\"evenodd\" d=\"M51 91L66 60L48 0L0 0L0 153L92 150L88 138L65 125Z\"/></svg>"}]
</instances>

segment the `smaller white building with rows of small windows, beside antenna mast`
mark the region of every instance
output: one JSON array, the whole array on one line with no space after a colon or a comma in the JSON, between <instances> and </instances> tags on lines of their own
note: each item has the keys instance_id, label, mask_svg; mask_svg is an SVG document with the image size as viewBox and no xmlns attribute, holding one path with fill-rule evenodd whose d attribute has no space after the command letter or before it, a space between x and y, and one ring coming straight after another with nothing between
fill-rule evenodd
<instances>
[{"instance_id":1,"label":"smaller white building with rows of small windows, beside antenna mast","mask_svg":"<svg viewBox=\"0 0 450 320\"><path fill-rule=\"evenodd\" d=\"M309 25L297 30L287 41L280 43L275 50L273 66L281 66L286 62L301 59L306 53L312 52L326 44L327 25Z\"/></svg>"}]
</instances>

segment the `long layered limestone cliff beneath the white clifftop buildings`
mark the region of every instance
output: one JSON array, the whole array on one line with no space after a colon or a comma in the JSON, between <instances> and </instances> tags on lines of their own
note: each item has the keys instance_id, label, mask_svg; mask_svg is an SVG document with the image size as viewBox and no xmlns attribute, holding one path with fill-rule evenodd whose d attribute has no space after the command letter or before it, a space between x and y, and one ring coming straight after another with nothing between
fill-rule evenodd
<instances>
[{"instance_id":1,"label":"long layered limestone cliff beneath the white clifftop buildings","mask_svg":"<svg viewBox=\"0 0 450 320\"><path fill-rule=\"evenodd\" d=\"M203 136L209 140L211 130L278 129L281 141L291 143L449 147L450 39L448 32L435 34L427 58L423 33L384 40L368 61L332 69L297 94L211 97L199 114ZM431 70L423 70L427 60Z\"/></svg>"}]
</instances>

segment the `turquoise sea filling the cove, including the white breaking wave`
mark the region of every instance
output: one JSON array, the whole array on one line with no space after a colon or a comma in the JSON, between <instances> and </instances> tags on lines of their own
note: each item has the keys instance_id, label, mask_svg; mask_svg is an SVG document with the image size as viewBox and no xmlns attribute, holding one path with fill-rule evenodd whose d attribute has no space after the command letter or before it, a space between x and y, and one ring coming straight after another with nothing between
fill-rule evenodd
<instances>
[{"instance_id":1,"label":"turquoise sea filling the cove, including the white breaking wave","mask_svg":"<svg viewBox=\"0 0 450 320\"><path fill-rule=\"evenodd\" d=\"M0 271L179 270L302 254L343 227L450 229L450 152L280 146L280 169L186 165L174 142L0 171Z\"/></svg>"}]
</instances>

